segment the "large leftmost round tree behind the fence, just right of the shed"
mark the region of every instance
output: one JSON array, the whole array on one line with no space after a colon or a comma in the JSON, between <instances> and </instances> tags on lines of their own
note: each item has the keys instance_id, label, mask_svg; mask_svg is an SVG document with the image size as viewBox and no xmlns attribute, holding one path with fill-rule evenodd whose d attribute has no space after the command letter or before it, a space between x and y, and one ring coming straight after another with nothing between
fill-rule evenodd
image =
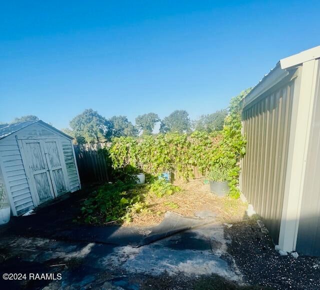
<instances>
[{"instance_id":1,"label":"large leftmost round tree behind the fence, just right of the shed","mask_svg":"<svg viewBox=\"0 0 320 290\"><path fill-rule=\"evenodd\" d=\"M92 109L76 115L70 121L70 127L78 142L105 142L112 135L112 123Z\"/></svg>"}]
</instances>

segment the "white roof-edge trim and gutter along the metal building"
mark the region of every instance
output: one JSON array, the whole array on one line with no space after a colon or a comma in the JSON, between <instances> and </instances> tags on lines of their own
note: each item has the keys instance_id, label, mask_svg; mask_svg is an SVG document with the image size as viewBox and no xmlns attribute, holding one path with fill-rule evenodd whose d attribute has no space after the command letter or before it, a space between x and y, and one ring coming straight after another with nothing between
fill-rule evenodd
<instances>
[{"instance_id":1,"label":"white roof-edge trim and gutter along the metal building","mask_svg":"<svg viewBox=\"0 0 320 290\"><path fill-rule=\"evenodd\" d=\"M287 69L290 67L316 58L320 58L320 45L280 59L276 65L267 74L265 74L244 97L243 106L245 107L248 105L263 92L267 91L269 88L287 76L289 74Z\"/></svg>"}]
</instances>

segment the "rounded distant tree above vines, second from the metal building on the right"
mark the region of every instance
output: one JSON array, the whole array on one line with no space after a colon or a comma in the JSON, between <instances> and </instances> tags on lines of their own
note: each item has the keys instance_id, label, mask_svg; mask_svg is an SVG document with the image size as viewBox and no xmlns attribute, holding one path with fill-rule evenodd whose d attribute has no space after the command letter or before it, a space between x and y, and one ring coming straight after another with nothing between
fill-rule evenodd
<instances>
[{"instance_id":1,"label":"rounded distant tree above vines, second from the metal building on the right","mask_svg":"<svg viewBox=\"0 0 320 290\"><path fill-rule=\"evenodd\" d=\"M186 110L175 110L165 117L160 124L160 132L188 132L191 129L191 121Z\"/></svg>"}]
</instances>

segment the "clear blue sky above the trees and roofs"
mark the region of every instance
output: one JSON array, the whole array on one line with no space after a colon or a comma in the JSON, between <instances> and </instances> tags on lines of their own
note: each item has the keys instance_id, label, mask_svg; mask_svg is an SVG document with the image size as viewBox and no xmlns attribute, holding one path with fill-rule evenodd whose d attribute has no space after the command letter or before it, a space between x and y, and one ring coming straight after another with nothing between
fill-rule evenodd
<instances>
[{"instance_id":1,"label":"clear blue sky above the trees and roofs","mask_svg":"<svg viewBox=\"0 0 320 290\"><path fill-rule=\"evenodd\" d=\"M192 119L320 44L320 1L2 1L0 121Z\"/></svg>"}]
</instances>

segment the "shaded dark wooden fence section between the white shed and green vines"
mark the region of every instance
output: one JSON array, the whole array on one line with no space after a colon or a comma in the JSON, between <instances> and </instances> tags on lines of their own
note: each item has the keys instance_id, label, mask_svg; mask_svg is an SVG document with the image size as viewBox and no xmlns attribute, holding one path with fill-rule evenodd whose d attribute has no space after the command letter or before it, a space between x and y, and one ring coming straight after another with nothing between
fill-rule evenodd
<instances>
[{"instance_id":1,"label":"shaded dark wooden fence section between the white shed and green vines","mask_svg":"<svg viewBox=\"0 0 320 290\"><path fill-rule=\"evenodd\" d=\"M99 150L105 148L107 143L73 146L81 182L109 181L109 166L103 152Z\"/></svg>"}]
</instances>

